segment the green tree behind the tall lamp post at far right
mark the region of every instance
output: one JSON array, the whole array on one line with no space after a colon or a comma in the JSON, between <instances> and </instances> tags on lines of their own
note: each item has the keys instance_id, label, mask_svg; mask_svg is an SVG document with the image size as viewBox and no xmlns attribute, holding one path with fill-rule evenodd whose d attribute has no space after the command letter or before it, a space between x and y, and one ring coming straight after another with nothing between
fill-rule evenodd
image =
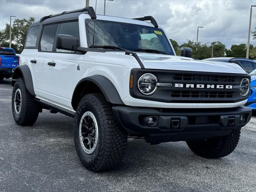
<instances>
[{"instance_id":1,"label":"green tree behind the tall lamp post at far right","mask_svg":"<svg viewBox=\"0 0 256 192\"><path fill-rule=\"evenodd\" d=\"M246 58L246 44L241 43L239 45L232 45L230 50L226 49L226 56L227 57L239 57L239 58ZM253 48L253 45L250 45L250 50Z\"/></svg>"}]
</instances>

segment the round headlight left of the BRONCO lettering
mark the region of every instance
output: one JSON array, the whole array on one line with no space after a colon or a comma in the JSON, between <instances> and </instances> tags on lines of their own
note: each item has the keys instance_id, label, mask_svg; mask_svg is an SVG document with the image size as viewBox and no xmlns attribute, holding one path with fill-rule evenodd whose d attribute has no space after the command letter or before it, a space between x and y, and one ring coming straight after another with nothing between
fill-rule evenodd
<instances>
[{"instance_id":1,"label":"round headlight left of the BRONCO lettering","mask_svg":"<svg viewBox=\"0 0 256 192\"><path fill-rule=\"evenodd\" d=\"M157 90L157 82L158 80L156 76L151 73L146 73L140 76L138 80L138 88L142 94L151 95Z\"/></svg>"}]
</instances>

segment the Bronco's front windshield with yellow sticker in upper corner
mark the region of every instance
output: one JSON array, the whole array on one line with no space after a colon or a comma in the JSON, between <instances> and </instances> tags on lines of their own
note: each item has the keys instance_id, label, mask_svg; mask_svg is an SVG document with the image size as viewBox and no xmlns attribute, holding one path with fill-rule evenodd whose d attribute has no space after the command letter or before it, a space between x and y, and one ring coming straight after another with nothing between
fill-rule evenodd
<instances>
[{"instance_id":1,"label":"Bronco's front windshield with yellow sticker in upper corner","mask_svg":"<svg viewBox=\"0 0 256 192\"><path fill-rule=\"evenodd\" d=\"M92 46L94 20L86 19L88 46ZM126 50L151 49L174 55L163 30L137 24L96 20L94 46L114 46ZM143 50L136 50L143 51Z\"/></svg>"}]
</instances>

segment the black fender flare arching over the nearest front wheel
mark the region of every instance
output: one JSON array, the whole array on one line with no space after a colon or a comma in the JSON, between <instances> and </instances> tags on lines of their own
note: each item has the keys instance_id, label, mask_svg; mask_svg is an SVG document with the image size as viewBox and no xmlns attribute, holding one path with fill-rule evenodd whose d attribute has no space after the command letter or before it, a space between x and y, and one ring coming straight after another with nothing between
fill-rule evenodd
<instances>
[{"instance_id":1,"label":"black fender flare arching over the nearest front wheel","mask_svg":"<svg viewBox=\"0 0 256 192\"><path fill-rule=\"evenodd\" d=\"M108 78L102 75L93 75L86 78L82 78L78 82L78 84L76 84L76 88L74 89L72 100L71 100L71 104L74 110L76 110L76 107L79 103L79 101L77 100L79 98L78 96L79 93L77 91L79 90L79 85L81 85L82 82L92 82L96 84L96 86L98 86L98 88L103 93L107 102L110 102L112 104L124 105L118 91L116 90L115 86L112 84L112 82Z\"/></svg>"}]
</instances>

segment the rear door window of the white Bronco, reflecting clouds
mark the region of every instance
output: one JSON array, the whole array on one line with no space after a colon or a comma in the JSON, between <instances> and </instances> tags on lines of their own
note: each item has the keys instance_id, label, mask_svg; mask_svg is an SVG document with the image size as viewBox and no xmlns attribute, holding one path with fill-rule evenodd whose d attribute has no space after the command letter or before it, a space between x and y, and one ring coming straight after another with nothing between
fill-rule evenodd
<instances>
[{"instance_id":1,"label":"rear door window of the white Bronco, reflecting clouds","mask_svg":"<svg viewBox=\"0 0 256 192\"><path fill-rule=\"evenodd\" d=\"M46 25L40 41L41 51L52 51L58 24Z\"/></svg>"}]
</instances>

